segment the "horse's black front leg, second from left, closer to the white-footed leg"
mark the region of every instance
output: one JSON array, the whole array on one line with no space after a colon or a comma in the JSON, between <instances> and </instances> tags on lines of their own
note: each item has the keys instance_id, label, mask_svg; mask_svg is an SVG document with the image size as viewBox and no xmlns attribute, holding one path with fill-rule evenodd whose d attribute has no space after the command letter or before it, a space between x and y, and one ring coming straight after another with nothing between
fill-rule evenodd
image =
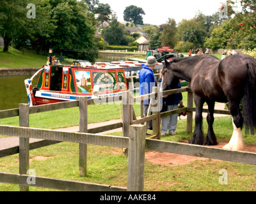
<instances>
[{"instance_id":1,"label":"horse's black front leg, second from left, closer to the white-footed leg","mask_svg":"<svg viewBox=\"0 0 256 204\"><path fill-rule=\"evenodd\" d=\"M204 145L218 145L216 136L213 131L213 122L214 122L214 105L215 101L206 101L208 105L208 115L207 115L207 123L208 123L208 132L205 138Z\"/></svg>"}]
</instances>

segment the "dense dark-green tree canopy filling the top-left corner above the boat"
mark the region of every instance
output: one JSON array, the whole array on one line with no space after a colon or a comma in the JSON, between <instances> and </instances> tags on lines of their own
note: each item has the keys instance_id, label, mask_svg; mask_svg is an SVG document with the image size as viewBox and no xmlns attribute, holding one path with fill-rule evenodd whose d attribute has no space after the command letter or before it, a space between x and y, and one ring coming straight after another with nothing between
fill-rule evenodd
<instances>
[{"instance_id":1,"label":"dense dark-green tree canopy filling the top-left corner above the boat","mask_svg":"<svg viewBox=\"0 0 256 204\"><path fill-rule=\"evenodd\" d=\"M27 5L35 4L35 18L28 18ZM84 50L67 53L69 57L94 61L95 20L84 1L77 0L14 0L0 1L0 36L5 51L12 42L15 48L28 48L26 41L38 53L61 50ZM96 50L96 52L90 52Z\"/></svg>"}]
</instances>

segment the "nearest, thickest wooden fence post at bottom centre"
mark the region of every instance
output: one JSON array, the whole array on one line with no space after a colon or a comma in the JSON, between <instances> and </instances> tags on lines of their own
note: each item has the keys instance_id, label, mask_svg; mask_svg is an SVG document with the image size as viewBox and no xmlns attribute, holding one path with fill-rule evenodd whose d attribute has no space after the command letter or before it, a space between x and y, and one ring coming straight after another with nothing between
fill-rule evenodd
<instances>
[{"instance_id":1,"label":"nearest, thickest wooden fence post at bottom centre","mask_svg":"<svg viewBox=\"0 0 256 204\"><path fill-rule=\"evenodd\" d=\"M127 191L143 191L145 166L145 125L130 126Z\"/></svg>"}]
</instances>

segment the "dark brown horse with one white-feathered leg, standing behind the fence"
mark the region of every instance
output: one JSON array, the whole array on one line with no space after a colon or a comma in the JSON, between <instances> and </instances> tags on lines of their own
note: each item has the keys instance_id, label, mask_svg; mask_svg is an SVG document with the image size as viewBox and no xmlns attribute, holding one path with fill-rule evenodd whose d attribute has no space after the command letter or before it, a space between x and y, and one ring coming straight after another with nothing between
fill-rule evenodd
<instances>
[{"instance_id":1,"label":"dark brown horse with one white-feathered leg, standing behind the fence","mask_svg":"<svg viewBox=\"0 0 256 204\"><path fill-rule=\"evenodd\" d=\"M165 61L163 68L163 91L173 89L179 79L191 83L196 105L195 130L189 143L217 145L212 124L216 101L229 104L234 132L225 149L243 150L241 128L255 133L256 127L256 59L249 55L231 55L220 61L212 55L198 55ZM243 116L239 104L243 99ZM202 109L208 105L208 132L202 132Z\"/></svg>"}]
</instances>

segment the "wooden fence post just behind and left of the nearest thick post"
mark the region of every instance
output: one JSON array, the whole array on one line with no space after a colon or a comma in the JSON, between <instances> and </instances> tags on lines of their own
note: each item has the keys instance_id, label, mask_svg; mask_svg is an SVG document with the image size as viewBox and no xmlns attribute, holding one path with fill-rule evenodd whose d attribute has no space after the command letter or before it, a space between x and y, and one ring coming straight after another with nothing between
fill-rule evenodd
<instances>
[{"instance_id":1,"label":"wooden fence post just behind and left of the nearest thick post","mask_svg":"<svg viewBox=\"0 0 256 204\"><path fill-rule=\"evenodd\" d=\"M122 92L123 104L123 136L129 137L129 126L133 120L133 95L130 91ZM124 156L128 156L127 149L123 150Z\"/></svg>"}]
</instances>

